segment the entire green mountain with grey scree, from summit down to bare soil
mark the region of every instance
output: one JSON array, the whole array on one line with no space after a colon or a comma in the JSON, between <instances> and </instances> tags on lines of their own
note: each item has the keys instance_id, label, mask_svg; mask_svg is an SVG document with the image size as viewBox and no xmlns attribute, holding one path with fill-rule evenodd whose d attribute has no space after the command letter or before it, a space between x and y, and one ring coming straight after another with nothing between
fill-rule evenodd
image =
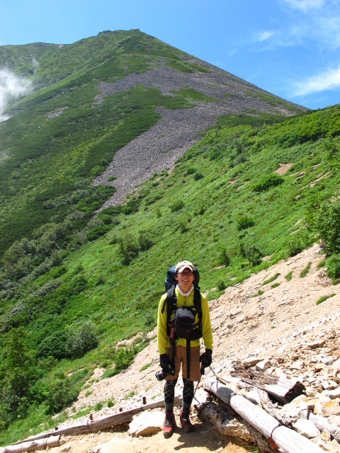
<instances>
[{"instance_id":1,"label":"entire green mountain with grey scree, from summit down to bare soil","mask_svg":"<svg viewBox=\"0 0 340 453\"><path fill-rule=\"evenodd\" d=\"M197 263L212 300L322 238L340 277L339 105L139 30L0 55L31 86L0 123L1 443L55 424L94 367L128 367L171 263Z\"/></svg>"}]
</instances>

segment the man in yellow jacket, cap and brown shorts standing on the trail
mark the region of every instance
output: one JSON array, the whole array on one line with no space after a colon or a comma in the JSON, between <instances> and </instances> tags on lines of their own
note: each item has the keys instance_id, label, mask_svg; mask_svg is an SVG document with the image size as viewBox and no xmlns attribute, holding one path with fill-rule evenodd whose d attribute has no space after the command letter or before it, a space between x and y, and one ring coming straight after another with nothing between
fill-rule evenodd
<instances>
[{"instance_id":1,"label":"man in yellow jacket, cap and brown shorts standing on the trail","mask_svg":"<svg viewBox=\"0 0 340 453\"><path fill-rule=\"evenodd\" d=\"M171 306L172 302L169 302L171 289L163 294L159 302L157 345L162 372L157 373L159 374L157 379L166 379L164 385L165 420L163 426L163 434L166 438L171 437L176 428L174 397L181 366L183 400L179 420L183 431L191 432L193 431L193 425L189 414L194 396L193 382L200 381L201 366L204 373L204 368L209 367L212 362L212 330L208 300L200 294L197 285L195 285L197 287L194 287L194 280L197 275L198 271L190 261L178 263L174 269L174 279L176 281L172 286L172 297L174 297L176 304L171 316L169 311L167 311L168 308L169 310L173 308ZM199 280L199 277L197 277L197 280ZM182 332L181 321L178 319L180 319L180 315L186 316L187 314L193 317L192 319L195 323L194 333L192 333L192 328L189 334L186 333L186 328ZM169 319L169 316L171 319ZM188 336L194 339L188 340ZM205 352L202 354L200 354L200 338L203 338L205 345Z\"/></svg>"}]
</instances>

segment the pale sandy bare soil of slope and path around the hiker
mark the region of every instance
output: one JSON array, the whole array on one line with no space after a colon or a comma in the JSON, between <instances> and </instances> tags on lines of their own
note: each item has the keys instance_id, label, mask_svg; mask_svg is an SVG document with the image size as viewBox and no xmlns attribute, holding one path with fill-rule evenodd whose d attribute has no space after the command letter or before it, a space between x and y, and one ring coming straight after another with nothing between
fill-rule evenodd
<instances>
[{"instance_id":1,"label":"pale sandy bare soil of slope and path around the hiker","mask_svg":"<svg viewBox=\"0 0 340 453\"><path fill-rule=\"evenodd\" d=\"M273 265L268 271L263 270L252 275L242 284L229 287L225 294L210 302L210 316L214 334L214 352L212 369L222 376L235 360L246 357L276 358L287 360L296 345L307 343L319 338L327 338L332 329L339 328L340 292L337 286L331 285L326 270L318 264L324 259L319 246L315 244L300 255ZM308 263L312 263L305 277L300 273ZM291 280L285 278L288 273ZM267 282L271 277L275 280ZM280 285L276 285L276 284ZM259 289L261 289L259 294ZM261 294L263 292L263 294ZM322 304L317 299L324 295L336 294ZM150 333L150 338L155 331ZM142 367L147 366L142 370ZM103 369L96 369L89 385L81 391L78 400L69 408L69 415L81 408L94 406L100 401L111 398L115 406L103 408L94 413L94 418L102 418L118 411L140 406L142 397L147 402L153 398L162 398L163 382L158 382L154 374L159 369L157 343L152 339L149 346L135 358L135 362L125 372L110 379L99 379ZM212 377L212 371L206 370L206 376ZM289 377L290 370L285 370ZM204 377L203 377L204 378ZM176 386L176 394L181 395L181 379ZM130 395L130 397L129 397ZM132 396L133 395L133 396ZM201 383L196 396L204 401L205 392ZM195 402L195 401L194 401ZM159 411L159 410L158 410ZM89 420L89 416L82 421ZM162 425L163 413L159 412L159 425ZM81 419L70 419L70 423L79 424ZM237 445L237 441L221 438L206 423L198 420L193 411L195 433L183 433L179 428L171 439L165 440L162 432L145 437L129 437L128 432L104 432L95 435L71 437L71 452L83 453L99 451L106 448L114 452L245 452L246 449ZM111 443L106 443L111 442ZM105 445L104 445L105 444ZM96 447L98 447L96 449ZM59 453L62 447L53 448ZM108 451L108 450L107 450Z\"/></svg>"}]
</instances>

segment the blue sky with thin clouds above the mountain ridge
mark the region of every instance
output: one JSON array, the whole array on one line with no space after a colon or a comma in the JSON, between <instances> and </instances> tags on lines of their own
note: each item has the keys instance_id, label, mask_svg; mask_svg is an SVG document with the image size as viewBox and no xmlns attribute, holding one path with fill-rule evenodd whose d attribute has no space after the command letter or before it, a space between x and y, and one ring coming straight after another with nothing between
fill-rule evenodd
<instances>
[{"instance_id":1,"label":"blue sky with thin clouds above the mountain ridge","mask_svg":"<svg viewBox=\"0 0 340 453\"><path fill-rule=\"evenodd\" d=\"M0 0L0 45L131 28L289 101L340 103L340 0Z\"/></svg>"}]
</instances>

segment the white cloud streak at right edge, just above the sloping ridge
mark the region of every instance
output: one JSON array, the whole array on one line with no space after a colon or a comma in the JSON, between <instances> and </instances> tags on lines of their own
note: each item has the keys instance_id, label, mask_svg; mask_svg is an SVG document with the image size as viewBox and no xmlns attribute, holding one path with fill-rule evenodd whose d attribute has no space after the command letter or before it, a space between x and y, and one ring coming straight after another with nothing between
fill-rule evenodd
<instances>
[{"instance_id":1,"label":"white cloud streak at right edge, just above the sloping ridge","mask_svg":"<svg viewBox=\"0 0 340 453\"><path fill-rule=\"evenodd\" d=\"M327 69L320 74L308 77L305 81L295 82L294 86L295 96L340 88L340 65L336 69Z\"/></svg>"}]
</instances>

